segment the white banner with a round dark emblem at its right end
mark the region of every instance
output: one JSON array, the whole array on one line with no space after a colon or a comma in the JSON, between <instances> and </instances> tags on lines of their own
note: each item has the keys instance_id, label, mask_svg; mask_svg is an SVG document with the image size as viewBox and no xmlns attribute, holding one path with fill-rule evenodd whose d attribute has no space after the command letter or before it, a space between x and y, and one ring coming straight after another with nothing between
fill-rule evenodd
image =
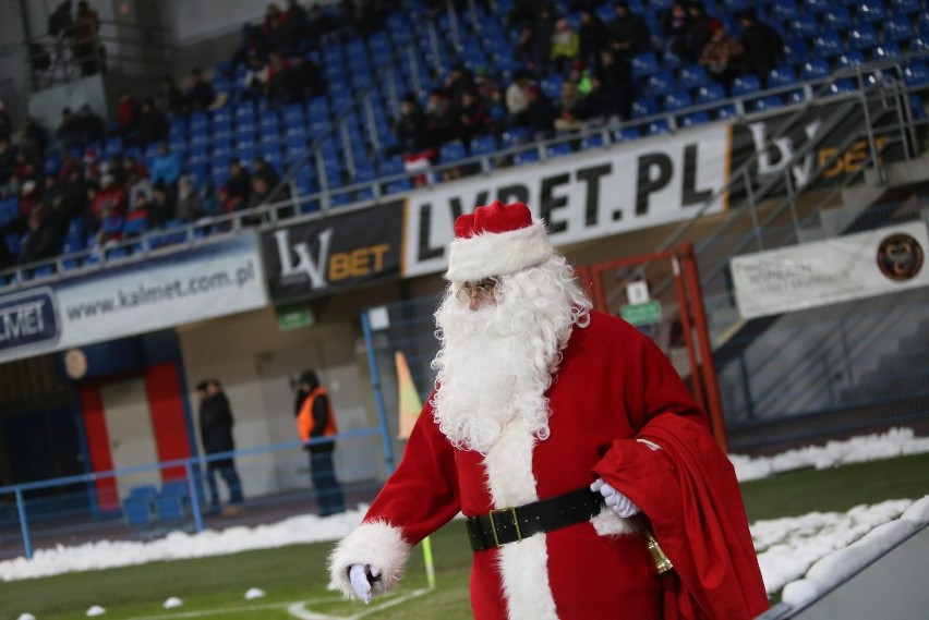
<instances>
[{"instance_id":1,"label":"white banner with a round dark emblem at its right end","mask_svg":"<svg viewBox=\"0 0 929 620\"><path fill-rule=\"evenodd\" d=\"M733 258L743 318L929 284L926 224L912 222Z\"/></svg>"}]
</instances>

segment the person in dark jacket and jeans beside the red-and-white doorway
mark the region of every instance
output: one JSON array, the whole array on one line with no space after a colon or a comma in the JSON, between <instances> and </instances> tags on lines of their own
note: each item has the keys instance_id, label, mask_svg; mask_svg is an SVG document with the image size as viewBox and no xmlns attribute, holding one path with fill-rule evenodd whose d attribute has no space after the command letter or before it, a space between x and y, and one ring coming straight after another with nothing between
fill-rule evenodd
<instances>
[{"instance_id":1,"label":"person in dark jacket and jeans beside the red-and-white doorway","mask_svg":"<svg viewBox=\"0 0 929 620\"><path fill-rule=\"evenodd\" d=\"M196 387L200 399L200 439L205 454L232 452L236 442L232 439L232 409L229 399L222 391L217 379L202 381ZM209 512L219 512L219 487L216 474L222 476L229 490L229 506L222 510L224 516L242 514L242 484L236 471L236 462L231 455L210 459L206 464L206 484L209 488Z\"/></svg>"}]
</instances>

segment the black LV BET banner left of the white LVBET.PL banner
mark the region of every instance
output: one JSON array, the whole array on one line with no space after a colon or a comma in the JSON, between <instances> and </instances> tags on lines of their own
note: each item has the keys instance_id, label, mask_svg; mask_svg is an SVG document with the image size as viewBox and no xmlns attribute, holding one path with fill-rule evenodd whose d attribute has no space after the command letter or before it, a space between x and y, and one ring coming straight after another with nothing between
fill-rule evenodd
<instances>
[{"instance_id":1,"label":"black LV BET banner left of the white LVBET.PL banner","mask_svg":"<svg viewBox=\"0 0 929 620\"><path fill-rule=\"evenodd\" d=\"M403 203L282 226L262 233L275 303L323 296L400 275Z\"/></svg>"}]
</instances>

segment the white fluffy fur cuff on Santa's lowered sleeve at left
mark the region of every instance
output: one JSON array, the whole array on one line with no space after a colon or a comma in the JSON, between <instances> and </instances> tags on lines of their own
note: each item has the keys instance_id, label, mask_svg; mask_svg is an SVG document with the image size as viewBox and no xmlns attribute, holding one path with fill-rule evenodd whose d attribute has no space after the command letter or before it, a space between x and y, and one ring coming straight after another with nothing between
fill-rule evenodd
<instances>
[{"instance_id":1,"label":"white fluffy fur cuff on Santa's lowered sleeve at left","mask_svg":"<svg viewBox=\"0 0 929 620\"><path fill-rule=\"evenodd\" d=\"M381 520L362 523L329 555L329 583L346 598L358 599L349 580L349 567L369 564L381 571L381 579L371 584L371 594L384 594L400 581L409 556L410 544L399 527Z\"/></svg>"}]
</instances>

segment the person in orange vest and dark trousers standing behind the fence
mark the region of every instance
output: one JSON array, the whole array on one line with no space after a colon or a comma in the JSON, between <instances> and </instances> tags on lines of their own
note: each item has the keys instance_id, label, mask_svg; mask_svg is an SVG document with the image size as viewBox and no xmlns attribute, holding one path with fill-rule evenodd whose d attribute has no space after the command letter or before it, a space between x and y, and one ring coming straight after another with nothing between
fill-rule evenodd
<instances>
[{"instance_id":1,"label":"person in orange vest and dark trousers standing behind the fence","mask_svg":"<svg viewBox=\"0 0 929 620\"><path fill-rule=\"evenodd\" d=\"M342 489L336 479L333 466L335 440L325 440L338 433L333 404L326 389L319 385L319 378L313 370L304 370L297 385L297 401L293 406L297 416L297 431L310 451L310 476L316 489L319 515L328 516L345 512ZM314 441L323 439L323 441ZM313 441L313 443L309 443Z\"/></svg>"}]
</instances>

